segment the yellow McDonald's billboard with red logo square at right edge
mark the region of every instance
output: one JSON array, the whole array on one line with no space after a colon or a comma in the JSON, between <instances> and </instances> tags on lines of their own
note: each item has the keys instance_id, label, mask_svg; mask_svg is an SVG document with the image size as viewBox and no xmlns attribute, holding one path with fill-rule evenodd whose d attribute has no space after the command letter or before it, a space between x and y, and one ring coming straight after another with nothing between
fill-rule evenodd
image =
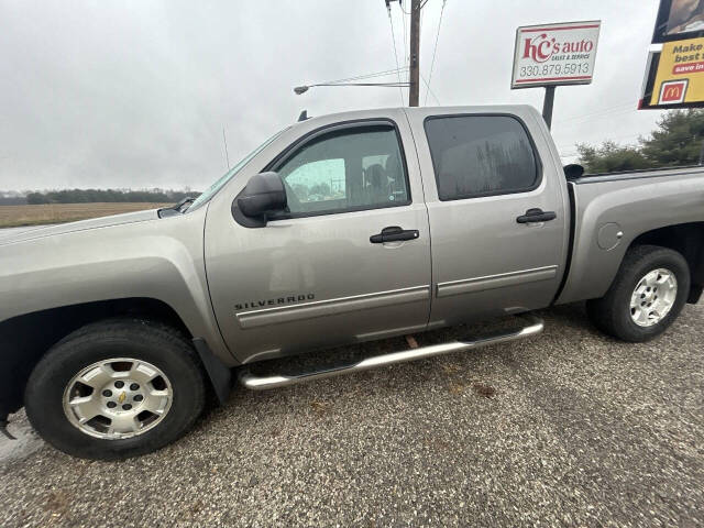
<instances>
[{"instance_id":1,"label":"yellow McDonald's billboard with red logo square at right edge","mask_svg":"<svg viewBox=\"0 0 704 528\"><path fill-rule=\"evenodd\" d=\"M662 44L648 106L693 106L703 101L704 37Z\"/></svg>"}]
</instances>

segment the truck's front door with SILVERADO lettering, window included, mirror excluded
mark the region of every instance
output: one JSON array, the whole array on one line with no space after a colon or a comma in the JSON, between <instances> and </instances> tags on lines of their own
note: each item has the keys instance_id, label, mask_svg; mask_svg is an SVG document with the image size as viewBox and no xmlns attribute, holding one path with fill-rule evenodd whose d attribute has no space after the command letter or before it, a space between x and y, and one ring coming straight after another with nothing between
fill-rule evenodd
<instances>
[{"instance_id":1,"label":"truck's front door with SILVERADO lettering, window included, mirror excluded","mask_svg":"<svg viewBox=\"0 0 704 528\"><path fill-rule=\"evenodd\" d=\"M237 195L208 211L212 304L243 362L428 322L428 215L405 114L301 127L256 169L279 174L289 212L253 229L230 213Z\"/></svg>"}]
</instances>

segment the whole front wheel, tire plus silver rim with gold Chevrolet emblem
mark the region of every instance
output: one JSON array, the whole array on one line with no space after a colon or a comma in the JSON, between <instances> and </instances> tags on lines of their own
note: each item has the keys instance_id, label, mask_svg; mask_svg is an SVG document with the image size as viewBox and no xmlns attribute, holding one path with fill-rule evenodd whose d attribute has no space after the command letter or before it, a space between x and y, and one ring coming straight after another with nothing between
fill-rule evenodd
<instances>
[{"instance_id":1,"label":"whole front wheel, tire plus silver rim with gold Chevrolet emblem","mask_svg":"<svg viewBox=\"0 0 704 528\"><path fill-rule=\"evenodd\" d=\"M205 378L187 338L170 327L114 319L84 327L36 365L30 421L57 449L116 460L160 449L200 415Z\"/></svg>"}]
</instances>

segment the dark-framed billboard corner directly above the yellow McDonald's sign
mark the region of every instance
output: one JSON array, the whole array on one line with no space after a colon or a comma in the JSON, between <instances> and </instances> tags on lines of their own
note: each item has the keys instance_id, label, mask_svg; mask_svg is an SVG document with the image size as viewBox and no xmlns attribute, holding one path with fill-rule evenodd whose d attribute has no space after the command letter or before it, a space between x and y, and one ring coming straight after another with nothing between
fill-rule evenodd
<instances>
[{"instance_id":1,"label":"dark-framed billboard corner directly above the yellow McDonald's sign","mask_svg":"<svg viewBox=\"0 0 704 528\"><path fill-rule=\"evenodd\" d=\"M653 44L704 36L703 0L661 0Z\"/></svg>"}]
</instances>

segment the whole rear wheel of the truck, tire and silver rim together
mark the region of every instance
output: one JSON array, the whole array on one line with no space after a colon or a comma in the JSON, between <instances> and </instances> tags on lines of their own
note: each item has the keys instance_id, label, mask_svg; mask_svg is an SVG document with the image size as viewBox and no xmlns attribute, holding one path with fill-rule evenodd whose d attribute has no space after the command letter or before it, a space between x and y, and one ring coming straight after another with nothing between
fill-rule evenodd
<instances>
[{"instance_id":1,"label":"whole rear wheel of the truck, tire and silver rim together","mask_svg":"<svg viewBox=\"0 0 704 528\"><path fill-rule=\"evenodd\" d=\"M618 275L587 314L605 333L642 342L664 332L678 318L690 292L690 268L676 251L639 245L626 253Z\"/></svg>"}]
</instances>

